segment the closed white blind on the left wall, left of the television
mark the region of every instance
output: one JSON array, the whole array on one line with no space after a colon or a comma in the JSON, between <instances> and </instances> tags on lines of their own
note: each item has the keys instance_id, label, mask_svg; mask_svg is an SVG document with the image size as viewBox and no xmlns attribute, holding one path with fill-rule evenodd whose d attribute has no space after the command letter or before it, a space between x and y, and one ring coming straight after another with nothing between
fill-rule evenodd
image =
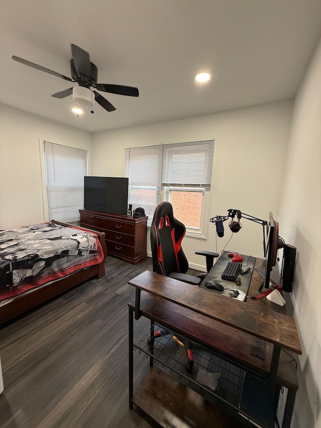
<instances>
[{"instance_id":1,"label":"closed white blind on the left wall, left of the television","mask_svg":"<svg viewBox=\"0 0 321 428\"><path fill-rule=\"evenodd\" d=\"M84 176L88 175L86 150L45 141L49 220L75 223L84 207Z\"/></svg>"}]
</instances>

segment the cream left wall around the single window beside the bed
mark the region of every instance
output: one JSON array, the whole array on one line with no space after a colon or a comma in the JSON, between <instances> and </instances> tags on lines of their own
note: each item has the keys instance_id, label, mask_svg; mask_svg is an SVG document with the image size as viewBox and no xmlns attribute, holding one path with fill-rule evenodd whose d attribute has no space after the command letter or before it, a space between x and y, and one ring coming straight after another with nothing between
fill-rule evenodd
<instances>
[{"instance_id":1,"label":"cream left wall around the single window beside the bed","mask_svg":"<svg viewBox=\"0 0 321 428\"><path fill-rule=\"evenodd\" d=\"M92 134L0 104L0 229L49 220L39 140L91 150Z\"/></svg>"}]
</instances>

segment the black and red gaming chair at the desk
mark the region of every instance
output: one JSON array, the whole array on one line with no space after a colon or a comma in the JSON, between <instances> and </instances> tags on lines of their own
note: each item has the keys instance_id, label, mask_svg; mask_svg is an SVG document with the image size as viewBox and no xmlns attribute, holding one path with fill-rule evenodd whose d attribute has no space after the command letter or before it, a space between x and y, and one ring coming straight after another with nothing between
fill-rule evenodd
<instances>
[{"instance_id":1,"label":"black and red gaming chair at the desk","mask_svg":"<svg viewBox=\"0 0 321 428\"><path fill-rule=\"evenodd\" d=\"M206 273L197 276L186 273L189 263L181 246L185 233L185 225L174 217L172 204L161 202L155 209L150 228L153 271L199 286ZM197 254L207 257L208 270L213 265L214 257L219 255L209 251L198 251ZM212 265L209 260L212 260Z\"/></svg>"}]
</instances>

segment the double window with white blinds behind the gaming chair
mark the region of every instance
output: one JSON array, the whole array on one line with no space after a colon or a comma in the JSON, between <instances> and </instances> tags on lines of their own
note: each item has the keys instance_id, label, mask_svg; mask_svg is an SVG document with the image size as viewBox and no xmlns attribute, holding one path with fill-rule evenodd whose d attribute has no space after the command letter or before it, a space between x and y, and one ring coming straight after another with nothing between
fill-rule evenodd
<instances>
[{"instance_id":1,"label":"double window with white blinds behind the gaming chair","mask_svg":"<svg viewBox=\"0 0 321 428\"><path fill-rule=\"evenodd\" d=\"M129 203L133 208L145 209L150 225L158 203L169 201L175 217L185 224L187 234L203 236L213 155L214 140L125 149ZM142 190L149 192L148 198L144 199L141 193L137 205L135 192Z\"/></svg>"}]
</instances>

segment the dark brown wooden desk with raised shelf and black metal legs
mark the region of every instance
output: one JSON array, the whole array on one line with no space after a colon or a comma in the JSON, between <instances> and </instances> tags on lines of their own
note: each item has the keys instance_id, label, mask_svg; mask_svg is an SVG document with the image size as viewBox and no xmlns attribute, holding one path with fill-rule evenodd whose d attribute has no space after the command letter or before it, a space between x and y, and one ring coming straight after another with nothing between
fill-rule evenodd
<instances>
[{"instance_id":1,"label":"dark brown wooden desk with raised shelf and black metal legs","mask_svg":"<svg viewBox=\"0 0 321 428\"><path fill-rule=\"evenodd\" d=\"M260 263L260 260L258 260L258 263ZM253 294L257 294L261 282L260 275L256 271L253 272L250 284L250 290L254 291ZM204 347L204 349L209 349L215 354L228 357L228 359L232 359L246 370L267 378L268 387L275 394L276 402L280 385L287 387L289 392L282 427L290 426L295 391L298 385L292 358L280 351L283 348L287 351L301 354L293 318L279 313L279 310L279 312L273 311L270 307L271 302L267 299L257 301L249 299L248 302L240 302L150 271L143 272L128 283L136 288L136 299L128 305L130 407L135 403L148 414L151 414L158 423L163 423L163 426L169 426L164 422L164 415L167 415L166 417L171 420L173 424L171 426L191 426L189 423L182 424L182 418L178 417L178 414L181 414L181 410L178 410L180 404L179 400L175 400L176 395L173 398L171 397L172 405L167 408L164 397L159 397L160 392L156 394L154 391L152 396L155 398L157 395L157 401L159 401L158 404L161 409L158 412L155 410L156 403L150 402L149 388L157 385L158 391L164 390L164 382L167 379L166 374L162 372L163 384L159 385L157 378L160 375L155 367L150 369L142 388L139 388L138 392L133 396L132 350L133 347L137 347L133 343L133 314L135 314L136 319L144 316L150 319L151 322L159 323L188 340L192 340L194 343ZM282 308L280 307L280 309ZM251 355L253 336L266 341L266 358L264 361ZM146 353L148 354L148 352ZM152 366L152 353L149 353L149 356L150 366ZM173 380L167 379L167 382L173 384ZM183 386L175 383L175 394L178 394L178 391L182 388ZM194 393L194 391L192 392ZM184 389L181 393L184 394L184 400L186 400L186 397L191 392ZM211 418L215 417L217 427L242 426L240 419L234 419L234 417L237 418L240 413L243 413L240 409L231 408L231 416L228 416L230 419L226 422L226 413L221 412L222 408L225 410L226 403L223 403L224 405L220 403L219 407L207 405L206 409L204 409L202 400L200 401L194 395L192 400L197 401L190 405L185 404L188 415L184 417L193 418L195 413L194 416L198 418L195 426L207 426L206 420L200 421L200 414L204 412L208 413L209 420L213 421ZM178 406L175 410L174 402ZM198 403L197 408L195 407L195 402ZM248 414L245 413L245 416L248 416ZM175 422L176 419L177 421ZM226 423L228 424L226 425Z\"/></svg>"}]
</instances>

